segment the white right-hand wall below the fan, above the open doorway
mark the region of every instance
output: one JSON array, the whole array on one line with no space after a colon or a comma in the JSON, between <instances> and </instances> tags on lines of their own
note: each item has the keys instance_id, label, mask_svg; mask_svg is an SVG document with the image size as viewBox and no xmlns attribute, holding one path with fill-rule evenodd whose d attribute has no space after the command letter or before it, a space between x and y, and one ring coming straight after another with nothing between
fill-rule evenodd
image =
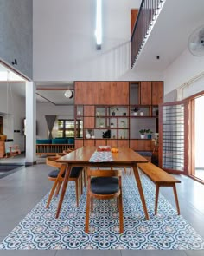
<instances>
[{"instance_id":1,"label":"white right-hand wall below the fan, above the open doorway","mask_svg":"<svg viewBox=\"0 0 204 256\"><path fill-rule=\"evenodd\" d=\"M184 50L182 55L178 56L175 62L173 62L163 74L164 95L174 89L178 89L183 83L188 82L203 71L204 56L193 56L189 53L188 49ZM204 76L189 84L189 88L185 89L184 97L194 95L201 90L204 90Z\"/></svg>"}]
</instances>

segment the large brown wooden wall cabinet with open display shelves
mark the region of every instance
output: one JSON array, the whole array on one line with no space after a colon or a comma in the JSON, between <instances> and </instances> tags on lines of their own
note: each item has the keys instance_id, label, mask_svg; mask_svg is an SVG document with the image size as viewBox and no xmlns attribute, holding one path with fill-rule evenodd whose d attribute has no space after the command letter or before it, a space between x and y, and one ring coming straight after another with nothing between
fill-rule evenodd
<instances>
[{"instance_id":1,"label":"large brown wooden wall cabinet with open display shelves","mask_svg":"<svg viewBox=\"0 0 204 256\"><path fill-rule=\"evenodd\" d=\"M110 145L152 151L151 140L141 140L139 130L158 132L162 102L163 82L75 82L75 115L83 123L76 148ZM139 109L137 115L134 108Z\"/></svg>"}]
</instances>

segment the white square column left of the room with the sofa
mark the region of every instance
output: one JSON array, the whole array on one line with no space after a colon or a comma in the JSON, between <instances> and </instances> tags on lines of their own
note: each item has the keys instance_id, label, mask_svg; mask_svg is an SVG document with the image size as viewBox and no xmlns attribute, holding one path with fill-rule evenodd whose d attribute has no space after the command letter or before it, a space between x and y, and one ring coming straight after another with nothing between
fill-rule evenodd
<instances>
[{"instance_id":1,"label":"white square column left of the room with the sofa","mask_svg":"<svg viewBox=\"0 0 204 256\"><path fill-rule=\"evenodd\" d=\"M26 82L26 165L36 163L35 83Z\"/></svg>"}]
</instances>

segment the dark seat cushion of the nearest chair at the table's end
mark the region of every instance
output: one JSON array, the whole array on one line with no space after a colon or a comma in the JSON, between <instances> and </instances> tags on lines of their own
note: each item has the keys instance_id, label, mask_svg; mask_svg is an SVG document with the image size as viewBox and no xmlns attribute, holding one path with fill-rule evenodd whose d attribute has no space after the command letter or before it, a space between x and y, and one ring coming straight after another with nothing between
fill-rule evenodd
<instances>
[{"instance_id":1,"label":"dark seat cushion of the nearest chair at the table's end","mask_svg":"<svg viewBox=\"0 0 204 256\"><path fill-rule=\"evenodd\" d=\"M91 190L94 194L114 194L119 190L118 178L95 177L91 180Z\"/></svg>"}]
</instances>

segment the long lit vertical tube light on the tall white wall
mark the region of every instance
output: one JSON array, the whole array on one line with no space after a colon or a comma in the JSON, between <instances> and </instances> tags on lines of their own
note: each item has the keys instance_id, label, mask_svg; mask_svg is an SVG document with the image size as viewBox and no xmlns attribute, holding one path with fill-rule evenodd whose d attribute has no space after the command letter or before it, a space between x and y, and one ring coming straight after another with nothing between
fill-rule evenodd
<instances>
[{"instance_id":1,"label":"long lit vertical tube light on the tall white wall","mask_svg":"<svg viewBox=\"0 0 204 256\"><path fill-rule=\"evenodd\" d=\"M101 43L102 43L102 7L101 7L101 1L97 0L96 2L96 30L95 30L95 36L96 36L96 49L101 49Z\"/></svg>"}]
</instances>

